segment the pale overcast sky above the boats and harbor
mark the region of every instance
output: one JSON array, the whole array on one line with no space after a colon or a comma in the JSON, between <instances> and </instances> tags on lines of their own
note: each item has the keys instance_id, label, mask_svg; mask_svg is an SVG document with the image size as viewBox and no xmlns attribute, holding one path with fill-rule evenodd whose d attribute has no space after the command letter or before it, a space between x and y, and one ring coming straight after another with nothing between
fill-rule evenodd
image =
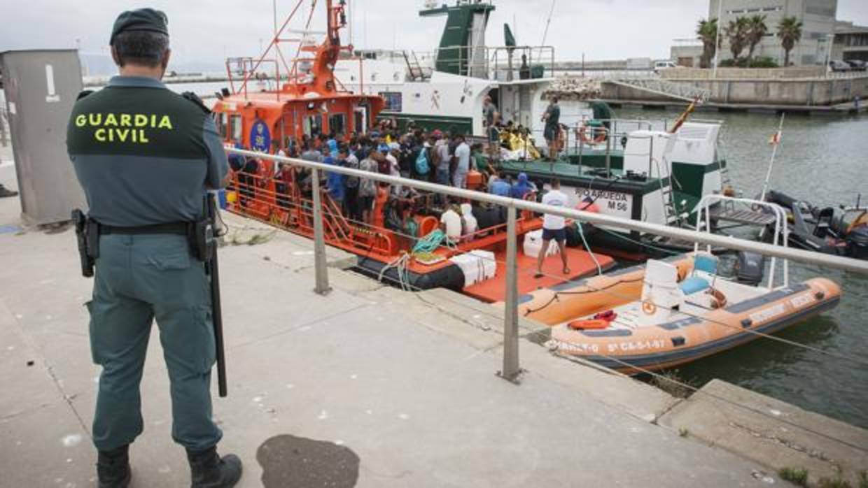
<instances>
[{"instance_id":1,"label":"pale overcast sky above the boats and harbor","mask_svg":"<svg viewBox=\"0 0 868 488\"><path fill-rule=\"evenodd\" d=\"M286 18L298 0L278 0ZM450 3L454 0L450 0ZM309 10L311 0L303 0ZM321 0L318 23L324 23ZM431 50L437 47L444 17L422 18L423 0L349 0L352 42L358 48ZM72 48L106 53L111 24L121 10L153 6L169 18L174 63L222 65L225 55L256 55L260 39L273 29L271 0L29 0L3 2L0 51ZM496 0L489 44L503 44L503 23L515 29L519 44L542 43L551 0ZM400 5L401 9L396 6ZM628 57L668 57L676 38L694 36L707 16L708 0L556 0L546 43L563 61ZM839 0L838 19L868 25L868 0ZM291 26L300 28L297 18ZM350 37L345 32L345 39Z\"/></svg>"}]
</instances>

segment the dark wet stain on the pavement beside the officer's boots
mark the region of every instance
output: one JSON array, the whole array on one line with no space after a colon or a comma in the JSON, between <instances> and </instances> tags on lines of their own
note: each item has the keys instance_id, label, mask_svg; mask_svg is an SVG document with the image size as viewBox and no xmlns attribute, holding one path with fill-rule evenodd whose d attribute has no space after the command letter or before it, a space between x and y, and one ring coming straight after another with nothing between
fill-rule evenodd
<instances>
[{"instance_id":1,"label":"dark wet stain on the pavement beside the officer's boots","mask_svg":"<svg viewBox=\"0 0 868 488\"><path fill-rule=\"evenodd\" d=\"M346 446L294 435L277 435L256 450L266 488L352 488L358 455Z\"/></svg>"}]
</instances>

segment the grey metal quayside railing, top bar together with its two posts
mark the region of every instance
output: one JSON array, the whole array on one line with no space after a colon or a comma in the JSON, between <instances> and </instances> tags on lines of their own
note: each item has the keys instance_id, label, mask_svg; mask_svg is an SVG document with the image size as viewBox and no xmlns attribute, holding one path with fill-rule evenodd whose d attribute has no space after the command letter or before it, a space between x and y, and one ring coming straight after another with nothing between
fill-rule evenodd
<instances>
[{"instance_id":1,"label":"grey metal quayside railing, top bar together with its two posts","mask_svg":"<svg viewBox=\"0 0 868 488\"><path fill-rule=\"evenodd\" d=\"M535 214L556 215L564 218L570 218L573 220L579 220L583 223L594 224L595 226L608 226L624 231L637 231L641 233L654 234L657 236L669 237L676 240L694 242L697 243L697 245L706 244L710 246L720 246L722 248L735 251L757 252L759 254L770 257L794 259L805 263L816 264L819 266L827 266L833 269L849 270L861 274L868 274L868 262L860 261L858 259L853 259L849 257L839 257L812 251L792 249L786 246L748 241L746 239L740 239L732 236L722 236L707 231L689 230L665 224L654 224L641 220L622 218L616 215L609 215L606 213L582 211L563 206L543 205L535 201L501 197L487 192L476 192L464 188L457 188L454 186L437 185L435 183L418 179L402 178L399 176L391 176L376 172L366 172L347 167L325 165L323 163L306 161L304 159L286 158L273 154L255 153L253 151L233 148L228 148L227 152L247 158L270 159L278 163L285 163L294 167L314 170L311 171L313 194L311 213L313 225L314 269L316 282L314 290L316 290L320 294L328 293L328 290L330 290L330 287L328 285L328 264L325 257L325 217L323 205L318 205L320 200L320 171L337 172L346 176L372 179L374 181L377 181L379 183L385 183L387 185L402 185L424 192L432 192L453 198L460 198L506 207L507 251L504 264L507 276L505 290L506 299L503 305L503 369L500 371L500 375L510 381L515 381L518 375L521 373L521 368L518 361L518 211L528 211ZM782 220L782 222L784 221L786 221L786 219Z\"/></svg>"}]
</instances>

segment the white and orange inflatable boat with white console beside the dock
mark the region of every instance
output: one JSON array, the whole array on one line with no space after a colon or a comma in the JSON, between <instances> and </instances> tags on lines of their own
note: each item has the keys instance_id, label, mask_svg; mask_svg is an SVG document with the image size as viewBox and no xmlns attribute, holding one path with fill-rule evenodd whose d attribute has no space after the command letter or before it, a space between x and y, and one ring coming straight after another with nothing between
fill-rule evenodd
<instances>
[{"instance_id":1,"label":"white and orange inflatable boat with white console beside the dock","mask_svg":"<svg viewBox=\"0 0 868 488\"><path fill-rule=\"evenodd\" d=\"M762 258L757 259L762 270ZM838 284L825 278L794 285L785 281L779 287L772 287L770 280L769 286L758 286L720 277L717 264L718 258L707 253L670 262L648 260L641 278L630 271L620 283L610 283L625 294L638 287L634 301L616 303L620 300L612 298L609 303L615 306L602 312L593 310L602 304L602 296L593 304L574 305L591 311L557 324L547 345L563 355L636 374L672 368L773 334L834 308L840 300ZM544 299L540 295L534 297L535 303ZM551 305L528 315L535 314L547 319L565 316Z\"/></svg>"}]
</instances>

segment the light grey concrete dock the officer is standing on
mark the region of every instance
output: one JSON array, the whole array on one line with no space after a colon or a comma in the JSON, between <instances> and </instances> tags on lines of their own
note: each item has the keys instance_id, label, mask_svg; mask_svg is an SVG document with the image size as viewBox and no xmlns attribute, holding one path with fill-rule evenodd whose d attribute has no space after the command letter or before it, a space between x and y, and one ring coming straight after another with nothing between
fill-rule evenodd
<instances>
[{"instance_id":1,"label":"light grey concrete dock the officer is standing on","mask_svg":"<svg viewBox=\"0 0 868 488\"><path fill-rule=\"evenodd\" d=\"M9 159L0 159L0 183L15 188ZM0 199L0 487L94 486L99 368L82 306L92 283L80 276L71 228L23 228L19 212L16 198ZM786 485L779 466L741 452L757 445L704 438L715 419L698 420L701 406L529 340L520 384L503 381L502 310L444 290L383 286L348 270L353 257L335 250L333 290L319 296L310 241L233 216L227 223L229 397L215 398L214 416L220 450L245 463L240 486ZM523 333L535 329L523 323ZM158 337L150 349L134 485L185 486ZM855 447L834 455L858 466L868 437L841 428Z\"/></svg>"}]
</instances>

